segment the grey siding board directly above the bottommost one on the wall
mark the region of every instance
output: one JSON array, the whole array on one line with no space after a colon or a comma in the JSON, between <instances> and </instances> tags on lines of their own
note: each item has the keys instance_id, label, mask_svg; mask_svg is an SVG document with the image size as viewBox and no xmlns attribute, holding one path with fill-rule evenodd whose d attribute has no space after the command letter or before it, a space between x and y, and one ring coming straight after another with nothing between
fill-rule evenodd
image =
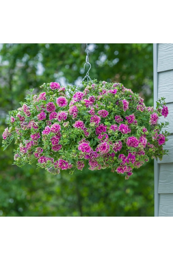
<instances>
[{"instance_id":1,"label":"grey siding board directly above the bottommost one on the wall","mask_svg":"<svg viewBox=\"0 0 173 260\"><path fill-rule=\"evenodd\" d=\"M160 164L158 193L173 193L173 164Z\"/></svg>"}]
</instances>

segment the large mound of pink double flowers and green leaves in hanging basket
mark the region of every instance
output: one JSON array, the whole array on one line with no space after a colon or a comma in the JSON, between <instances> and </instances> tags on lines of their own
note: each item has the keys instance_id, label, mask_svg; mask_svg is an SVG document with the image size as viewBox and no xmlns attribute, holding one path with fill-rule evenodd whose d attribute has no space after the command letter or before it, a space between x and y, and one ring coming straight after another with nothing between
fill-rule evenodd
<instances>
[{"instance_id":1,"label":"large mound of pink double flowers and green leaves in hanging basket","mask_svg":"<svg viewBox=\"0 0 173 260\"><path fill-rule=\"evenodd\" d=\"M121 83L82 83L44 83L38 96L31 89L9 112L3 147L16 140L14 164L36 163L53 174L110 168L128 179L150 157L162 159L169 134L162 131L168 122L158 123L168 115L164 98L154 109Z\"/></svg>"}]
</instances>

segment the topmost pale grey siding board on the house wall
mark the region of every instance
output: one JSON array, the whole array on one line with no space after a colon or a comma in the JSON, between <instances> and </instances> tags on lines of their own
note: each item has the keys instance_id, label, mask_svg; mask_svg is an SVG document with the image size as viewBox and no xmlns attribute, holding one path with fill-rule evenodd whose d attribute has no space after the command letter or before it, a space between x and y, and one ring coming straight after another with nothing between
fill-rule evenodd
<instances>
[{"instance_id":1,"label":"topmost pale grey siding board on the house wall","mask_svg":"<svg viewBox=\"0 0 173 260\"><path fill-rule=\"evenodd\" d=\"M158 44L157 72L173 69L173 43Z\"/></svg>"}]
</instances>

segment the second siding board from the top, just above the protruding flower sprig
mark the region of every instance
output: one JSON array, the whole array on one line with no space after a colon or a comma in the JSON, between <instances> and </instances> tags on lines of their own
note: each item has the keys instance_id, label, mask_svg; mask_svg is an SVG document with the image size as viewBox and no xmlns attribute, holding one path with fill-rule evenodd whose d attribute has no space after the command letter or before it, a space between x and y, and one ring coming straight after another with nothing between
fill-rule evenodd
<instances>
[{"instance_id":1,"label":"second siding board from the top, just above the protruding flower sprig","mask_svg":"<svg viewBox=\"0 0 173 260\"><path fill-rule=\"evenodd\" d=\"M173 102L173 70L159 73L158 99L161 97L166 98L166 103Z\"/></svg>"}]
</instances>

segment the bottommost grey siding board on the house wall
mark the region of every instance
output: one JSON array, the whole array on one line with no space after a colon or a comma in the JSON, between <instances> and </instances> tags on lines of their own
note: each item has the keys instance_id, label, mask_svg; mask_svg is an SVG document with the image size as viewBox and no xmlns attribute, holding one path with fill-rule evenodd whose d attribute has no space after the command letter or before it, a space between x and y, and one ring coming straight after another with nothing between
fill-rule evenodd
<instances>
[{"instance_id":1,"label":"bottommost grey siding board on the house wall","mask_svg":"<svg viewBox=\"0 0 173 260\"><path fill-rule=\"evenodd\" d=\"M173 194L160 194L159 217L173 217Z\"/></svg>"}]
</instances>

